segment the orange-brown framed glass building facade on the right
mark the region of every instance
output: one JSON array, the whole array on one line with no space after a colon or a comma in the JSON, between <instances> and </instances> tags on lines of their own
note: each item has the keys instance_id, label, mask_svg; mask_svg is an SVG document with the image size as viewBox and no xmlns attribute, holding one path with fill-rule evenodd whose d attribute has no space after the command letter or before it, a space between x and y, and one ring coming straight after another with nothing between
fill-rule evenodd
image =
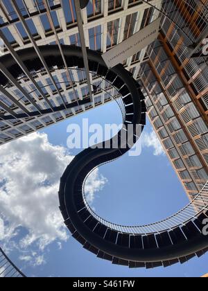
<instances>
[{"instance_id":1,"label":"orange-brown framed glass building facade on the right","mask_svg":"<svg viewBox=\"0 0 208 291\"><path fill-rule=\"evenodd\" d=\"M164 19L157 42L148 47L149 60L141 64L139 76L146 89L150 121L193 199L208 179L208 67L202 56L187 56L190 39L197 42L206 27L207 14L202 20L202 7L187 11L185 1L167 2L172 2L169 16L186 27L187 35L181 35L169 19Z\"/></svg>"}]
</instances>

